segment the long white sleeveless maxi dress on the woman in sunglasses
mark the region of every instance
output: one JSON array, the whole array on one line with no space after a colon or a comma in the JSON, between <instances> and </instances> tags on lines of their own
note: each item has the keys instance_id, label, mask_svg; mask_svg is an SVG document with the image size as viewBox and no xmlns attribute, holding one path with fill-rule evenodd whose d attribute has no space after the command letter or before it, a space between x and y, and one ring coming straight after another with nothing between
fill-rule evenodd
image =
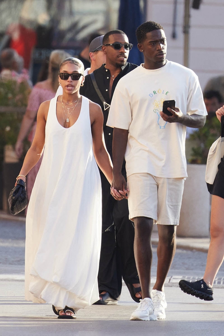
<instances>
[{"instance_id":1,"label":"long white sleeveless maxi dress on the woman in sunglasses","mask_svg":"<svg viewBox=\"0 0 224 336\"><path fill-rule=\"evenodd\" d=\"M50 101L45 149L26 217L25 299L77 311L99 299L101 181L89 101L62 127Z\"/></svg>"}]
</instances>

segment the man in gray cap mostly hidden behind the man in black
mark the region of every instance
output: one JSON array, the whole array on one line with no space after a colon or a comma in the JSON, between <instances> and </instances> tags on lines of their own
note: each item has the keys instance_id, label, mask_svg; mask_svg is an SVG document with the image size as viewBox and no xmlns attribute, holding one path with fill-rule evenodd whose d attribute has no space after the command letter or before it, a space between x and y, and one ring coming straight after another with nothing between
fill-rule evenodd
<instances>
[{"instance_id":1,"label":"man in gray cap mostly hidden behind the man in black","mask_svg":"<svg viewBox=\"0 0 224 336\"><path fill-rule=\"evenodd\" d=\"M102 51L103 36L98 36L89 45L89 59L91 67L85 69L84 76L91 74L94 70L101 67L106 62L106 56Z\"/></svg>"}]
</instances>

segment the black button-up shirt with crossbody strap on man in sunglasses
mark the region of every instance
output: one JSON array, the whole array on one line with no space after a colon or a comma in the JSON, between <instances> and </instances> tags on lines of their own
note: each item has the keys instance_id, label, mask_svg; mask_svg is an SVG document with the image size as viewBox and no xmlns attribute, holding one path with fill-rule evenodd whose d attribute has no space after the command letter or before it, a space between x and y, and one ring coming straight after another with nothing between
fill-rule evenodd
<instances>
[{"instance_id":1,"label":"black button-up shirt with crossbody strap on man in sunglasses","mask_svg":"<svg viewBox=\"0 0 224 336\"><path fill-rule=\"evenodd\" d=\"M105 99L105 102L110 105L111 99L114 94L115 87L118 83L118 81L125 76L127 73L132 71L133 69L137 68L137 65L126 62L125 65L122 67L122 70L120 74L114 79L112 90L111 90L111 97L109 97L109 82L110 82L110 71L108 69L105 69L104 64L99 68L96 69L93 73L96 79L96 83ZM112 74L113 75L113 74ZM83 96L89 98L93 102L100 105L103 116L104 116L104 122L103 122L103 133L105 138L105 144L106 149L112 159L112 136L113 136L113 128L106 126L107 118L109 109L104 111L103 103L101 102L98 94L96 93L96 90L94 89L92 80L90 75L85 76L85 82L84 85L80 87L80 94Z\"/></svg>"}]
</instances>

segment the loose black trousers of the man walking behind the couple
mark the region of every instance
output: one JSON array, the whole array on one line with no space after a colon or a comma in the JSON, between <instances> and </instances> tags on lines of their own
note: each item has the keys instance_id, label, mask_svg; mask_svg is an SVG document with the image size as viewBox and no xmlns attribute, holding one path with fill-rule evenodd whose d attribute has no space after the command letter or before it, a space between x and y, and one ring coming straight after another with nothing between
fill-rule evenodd
<instances>
[{"instance_id":1,"label":"loose black trousers of the man walking behind the couple","mask_svg":"<svg viewBox=\"0 0 224 336\"><path fill-rule=\"evenodd\" d=\"M139 283L134 258L135 230L128 215L128 201L116 201L110 185L100 172L102 183L102 242L98 273L99 293L106 291L119 299L122 277L126 283Z\"/></svg>"}]
</instances>

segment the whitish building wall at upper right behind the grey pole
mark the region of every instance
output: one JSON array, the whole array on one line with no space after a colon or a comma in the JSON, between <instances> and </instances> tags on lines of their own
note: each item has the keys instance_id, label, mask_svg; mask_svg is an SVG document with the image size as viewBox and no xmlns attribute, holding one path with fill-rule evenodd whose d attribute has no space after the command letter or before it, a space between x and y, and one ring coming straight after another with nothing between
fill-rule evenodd
<instances>
[{"instance_id":1,"label":"whitish building wall at upper right behind the grey pole","mask_svg":"<svg viewBox=\"0 0 224 336\"><path fill-rule=\"evenodd\" d=\"M183 64L184 0L177 0L177 38L172 38L174 1L147 0L147 20L160 23L167 36L169 60ZM189 68L201 88L211 77L224 75L224 0L203 0L190 9Z\"/></svg>"}]
</instances>

